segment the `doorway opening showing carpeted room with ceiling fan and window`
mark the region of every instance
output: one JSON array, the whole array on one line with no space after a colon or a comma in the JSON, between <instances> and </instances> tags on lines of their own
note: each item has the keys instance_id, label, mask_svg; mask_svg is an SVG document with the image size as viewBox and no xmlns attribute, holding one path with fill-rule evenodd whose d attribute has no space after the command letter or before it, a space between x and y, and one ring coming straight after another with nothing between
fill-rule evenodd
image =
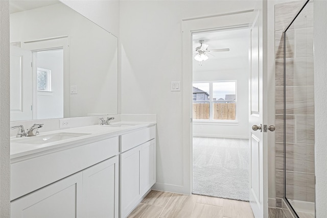
<instances>
[{"instance_id":1,"label":"doorway opening showing carpeted room with ceiling fan and window","mask_svg":"<svg viewBox=\"0 0 327 218\"><path fill-rule=\"evenodd\" d=\"M192 34L193 188L249 201L248 28Z\"/></svg>"}]
</instances>

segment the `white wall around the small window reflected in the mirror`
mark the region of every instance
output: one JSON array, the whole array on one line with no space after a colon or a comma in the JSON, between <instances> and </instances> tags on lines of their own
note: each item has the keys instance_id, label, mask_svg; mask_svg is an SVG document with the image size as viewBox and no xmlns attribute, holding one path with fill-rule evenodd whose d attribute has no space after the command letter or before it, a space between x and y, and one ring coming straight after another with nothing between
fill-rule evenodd
<instances>
[{"instance_id":1,"label":"white wall around the small window reflected in the mirror","mask_svg":"<svg viewBox=\"0 0 327 218\"><path fill-rule=\"evenodd\" d=\"M36 118L63 117L63 50L38 52L36 66L51 70L51 92L37 91Z\"/></svg>"}]
</instances>

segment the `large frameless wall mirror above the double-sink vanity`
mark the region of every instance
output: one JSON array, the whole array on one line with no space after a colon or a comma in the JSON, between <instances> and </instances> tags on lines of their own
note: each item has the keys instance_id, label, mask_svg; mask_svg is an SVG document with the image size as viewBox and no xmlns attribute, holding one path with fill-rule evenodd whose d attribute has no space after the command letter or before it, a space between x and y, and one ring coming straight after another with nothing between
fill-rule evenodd
<instances>
[{"instance_id":1,"label":"large frameless wall mirror above the double-sink vanity","mask_svg":"<svg viewBox=\"0 0 327 218\"><path fill-rule=\"evenodd\" d=\"M10 1L10 119L118 113L118 39L59 1Z\"/></svg>"}]
</instances>

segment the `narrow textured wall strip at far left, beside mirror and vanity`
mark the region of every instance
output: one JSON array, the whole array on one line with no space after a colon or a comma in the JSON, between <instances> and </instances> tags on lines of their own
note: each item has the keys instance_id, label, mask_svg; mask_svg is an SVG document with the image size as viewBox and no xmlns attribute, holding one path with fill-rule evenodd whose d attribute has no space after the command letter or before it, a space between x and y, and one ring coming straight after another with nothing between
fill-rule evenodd
<instances>
[{"instance_id":1,"label":"narrow textured wall strip at far left, beside mirror and vanity","mask_svg":"<svg viewBox=\"0 0 327 218\"><path fill-rule=\"evenodd\" d=\"M10 217L9 1L0 8L0 217Z\"/></svg>"}]
</instances>

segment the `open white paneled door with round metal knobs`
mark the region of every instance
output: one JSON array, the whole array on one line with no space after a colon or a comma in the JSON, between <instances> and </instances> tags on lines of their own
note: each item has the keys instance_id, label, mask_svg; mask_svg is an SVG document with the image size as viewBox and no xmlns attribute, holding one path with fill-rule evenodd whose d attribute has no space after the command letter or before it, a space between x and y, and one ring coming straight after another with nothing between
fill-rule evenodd
<instances>
[{"instance_id":1,"label":"open white paneled door with round metal knobs","mask_svg":"<svg viewBox=\"0 0 327 218\"><path fill-rule=\"evenodd\" d=\"M265 101L267 100L263 55L263 18L262 10L250 29L250 86L249 86L249 144L251 154L250 164L250 204L256 218L268 217L268 173L267 168L267 132L263 125L267 118L264 116Z\"/></svg>"}]
</instances>

